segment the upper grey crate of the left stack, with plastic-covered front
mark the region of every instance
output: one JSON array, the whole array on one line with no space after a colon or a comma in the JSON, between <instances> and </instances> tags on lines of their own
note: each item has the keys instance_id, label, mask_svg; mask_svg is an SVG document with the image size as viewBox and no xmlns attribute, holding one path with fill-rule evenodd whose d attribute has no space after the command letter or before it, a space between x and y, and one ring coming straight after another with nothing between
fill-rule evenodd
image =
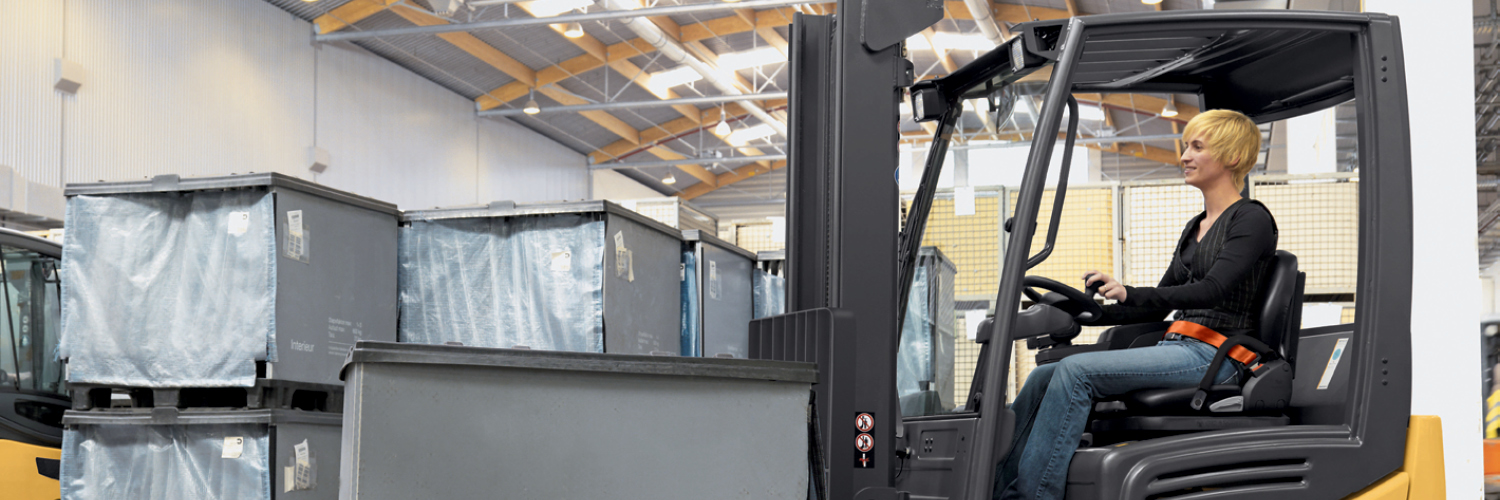
<instances>
[{"instance_id":1,"label":"upper grey crate of the left stack, with plastic-covered front","mask_svg":"<svg viewBox=\"0 0 1500 500\"><path fill-rule=\"evenodd\" d=\"M274 173L64 192L72 383L336 384L356 341L396 338L393 204Z\"/></svg>"}]
</instances>

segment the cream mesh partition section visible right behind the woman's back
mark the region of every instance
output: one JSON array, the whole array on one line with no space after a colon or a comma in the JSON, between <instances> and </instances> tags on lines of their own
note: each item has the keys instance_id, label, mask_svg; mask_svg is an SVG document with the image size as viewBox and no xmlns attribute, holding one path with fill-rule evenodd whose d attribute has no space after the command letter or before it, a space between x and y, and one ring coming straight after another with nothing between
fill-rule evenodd
<instances>
[{"instance_id":1,"label":"cream mesh partition section visible right behind the woman's back","mask_svg":"<svg viewBox=\"0 0 1500 500\"><path fill-rule=\"evenodd\" d=\"M1251 177L1251 195L1276 218L1276 248L1298 255L1306 294L1352 294L1359 260L1356 174Z\"/></svg>"}]
</instances>

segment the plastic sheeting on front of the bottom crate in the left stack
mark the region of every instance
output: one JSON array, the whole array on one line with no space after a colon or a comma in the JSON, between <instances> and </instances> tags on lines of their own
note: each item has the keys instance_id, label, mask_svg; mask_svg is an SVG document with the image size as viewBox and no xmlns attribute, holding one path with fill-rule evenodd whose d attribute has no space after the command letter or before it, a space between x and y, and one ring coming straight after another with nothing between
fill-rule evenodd
<instances>
[{"instance_id":1,"label":"plastic sheeting on front of the bottom crate in the left stack","mask_svg":"<svg viewBox=\"0 0 1500 500\"><path fill-rule=\"evenodd\" d=\"M63 434L62 497L270 498L264 423L76 425Z\"/></svg>"}]
</instances>

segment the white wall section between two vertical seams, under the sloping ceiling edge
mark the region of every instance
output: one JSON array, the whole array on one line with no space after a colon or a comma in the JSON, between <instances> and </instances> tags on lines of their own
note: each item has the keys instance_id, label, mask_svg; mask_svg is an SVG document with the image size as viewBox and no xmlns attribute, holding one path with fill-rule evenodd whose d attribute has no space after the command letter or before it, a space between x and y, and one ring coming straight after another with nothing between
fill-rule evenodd
<instances>
[{"instance_id":1,"label":"white wall section between two vertical seams, under the sloping ceiling edge","mask_svg":"<svg viewBox=\"0 0 1500 500\"><path fill-rule=\"evenodd\" d=\"M404 209L480 201L468 99L356 48L324 45L318 63L318 147L333 159L318 182Z\"/></svg>"}]
</instances>

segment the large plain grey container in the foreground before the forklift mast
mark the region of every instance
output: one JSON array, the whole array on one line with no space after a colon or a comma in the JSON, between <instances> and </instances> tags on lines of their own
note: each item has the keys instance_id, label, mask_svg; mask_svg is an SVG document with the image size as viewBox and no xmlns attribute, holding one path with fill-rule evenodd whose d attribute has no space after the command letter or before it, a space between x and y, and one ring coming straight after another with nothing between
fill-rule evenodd
<instances>
[{"instance_id":1,"label":"large plain grey container in the foreground before the forklift mast","mask_svg":"<svg viewBox=\"0 0 1500 500\"><path fill-rule=\"evenodd\" d=\"M360 342L340 498L807 498L810 363Z\"/></svg>"}]
</instances>

